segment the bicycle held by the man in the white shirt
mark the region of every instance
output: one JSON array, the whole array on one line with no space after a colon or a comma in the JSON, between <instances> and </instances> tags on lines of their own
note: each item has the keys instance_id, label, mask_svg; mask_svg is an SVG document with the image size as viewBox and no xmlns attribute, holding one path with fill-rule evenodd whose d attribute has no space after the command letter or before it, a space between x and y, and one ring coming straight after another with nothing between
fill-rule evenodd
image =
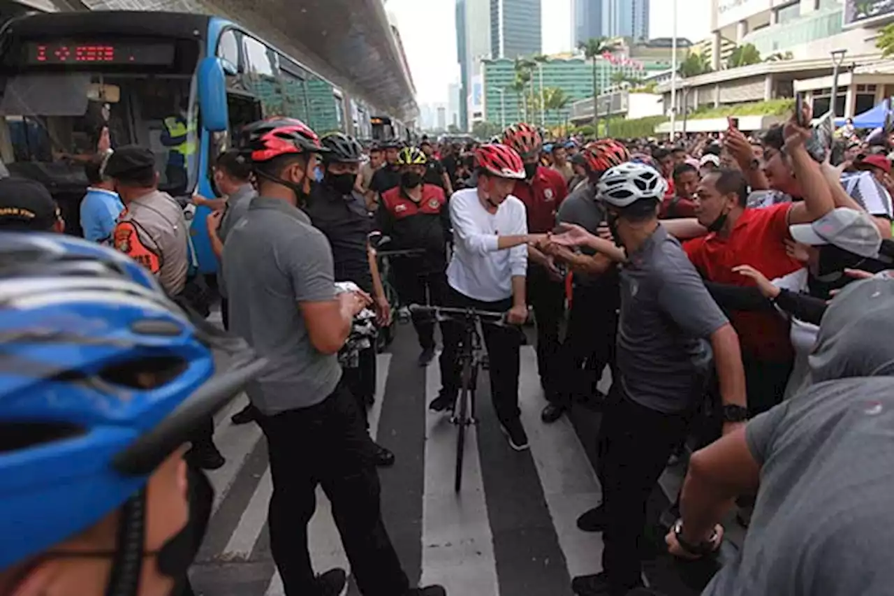
<instances>
[{"instance_id":1,"label":"bicycle held by the man in the white shirt","mask_svg":"<svg viewBox=\"0 0 894 596\"><path fill-rule=\"evenodd\" d=\"M475 309L449 308L440 306L420 306L411 304L412 313L430 314L438 322L456 321L463 325L463 337L460 341L459 362L460 373L459 411L457 403L453 404L451 424L457 426L456 439L456 472L453 477L453 490L462 489L462 460L466 443L466 429L477 424L475 418L475 392L478 385L478 372L485 368L485 348L482 344L483 331L481 325L497 327L515 327L506 322L502 312L477 311Z\"/></svg>"}]
</instances>

